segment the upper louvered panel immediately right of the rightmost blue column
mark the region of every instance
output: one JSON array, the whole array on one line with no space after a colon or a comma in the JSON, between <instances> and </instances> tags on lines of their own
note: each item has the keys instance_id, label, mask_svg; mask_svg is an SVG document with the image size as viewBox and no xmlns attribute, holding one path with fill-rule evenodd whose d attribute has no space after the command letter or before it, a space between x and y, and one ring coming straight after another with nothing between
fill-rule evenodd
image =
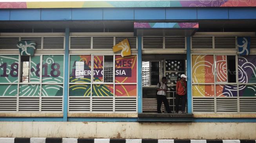
<instances>
[{"instance_id":1,"label":"upper louvered panel immediately right of the rightmost blue column","mask_svg":"<svg viewBox=\"0 0 256 143\"><path fill-rule=\"evenodd\" d=\"M193 36L192 48L212 48L212 36Z\"/></svg>"}]
</instances>

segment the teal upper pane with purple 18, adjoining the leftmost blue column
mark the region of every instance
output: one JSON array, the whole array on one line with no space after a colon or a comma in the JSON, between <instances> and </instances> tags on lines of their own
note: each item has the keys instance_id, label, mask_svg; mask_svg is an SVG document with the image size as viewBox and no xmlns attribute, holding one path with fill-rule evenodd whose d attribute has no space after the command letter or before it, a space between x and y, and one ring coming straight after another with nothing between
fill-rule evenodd
<instances>
[{"instance_id":1,"label":"teal upper pane with purple 18, adjoining the leftmost blue column","mask_svg":"<svg viewBox=\"0 0 256 143\"><path fill-rule=\"evenodd\" d=\"M42 82L62 83L64 76L63 55L43 55Z\"/></svg>"}]
</instances>

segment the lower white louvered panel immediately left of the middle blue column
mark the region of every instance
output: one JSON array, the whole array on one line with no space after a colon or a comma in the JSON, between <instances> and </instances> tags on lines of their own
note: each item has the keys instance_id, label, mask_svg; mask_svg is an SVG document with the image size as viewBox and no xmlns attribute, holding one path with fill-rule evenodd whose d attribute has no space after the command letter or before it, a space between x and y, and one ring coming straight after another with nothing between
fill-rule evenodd
<instances>
[{"instance_id":1,"label":"lower white louvered panel immediately left of the middle blue column","mask_svg":"<svg viewBox=\"0 0 256 143\"><path fill-rule=\"evenodd\" d=\"M116 97L116 112L136 112L136 97Z\"/></svg>"}]
</instances>

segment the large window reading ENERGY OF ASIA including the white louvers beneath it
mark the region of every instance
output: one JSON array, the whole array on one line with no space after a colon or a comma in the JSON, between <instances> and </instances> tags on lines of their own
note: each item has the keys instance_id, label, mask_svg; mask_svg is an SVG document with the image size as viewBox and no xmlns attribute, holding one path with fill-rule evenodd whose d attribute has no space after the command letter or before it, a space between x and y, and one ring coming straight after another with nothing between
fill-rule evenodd
<instances>
[{"instance_id":1,"label":"large window reading ENERGY OF ASIA including the white louvers beneath it","mask_svg":"<svg viewBox=\"0 0 256 143\"><path fill-rule=\"evenodd\" d=\"M69 112L136 112L136 96L136 55L70 55Z\"/></svg>"}]
</instances>

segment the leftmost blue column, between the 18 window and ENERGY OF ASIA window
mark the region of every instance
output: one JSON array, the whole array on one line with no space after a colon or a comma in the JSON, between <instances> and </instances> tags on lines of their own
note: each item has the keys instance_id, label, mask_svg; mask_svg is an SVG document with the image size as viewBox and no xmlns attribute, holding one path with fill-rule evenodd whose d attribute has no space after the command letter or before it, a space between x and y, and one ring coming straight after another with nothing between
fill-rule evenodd
<instances>
[{"instance_id":1,"label":"leftmost blue column, between the 18 window and ENERGY OF ASIA window","mask_svg":"<svg viewBox=\"0 0 256 143\"><path fill-rule=\"evenodd\" d=\"M69 88L69 28L65 29L65 61L64 61L64 100L63 100L63 121L67 121L67 99Z\"/></svg>"}]
</instances>

